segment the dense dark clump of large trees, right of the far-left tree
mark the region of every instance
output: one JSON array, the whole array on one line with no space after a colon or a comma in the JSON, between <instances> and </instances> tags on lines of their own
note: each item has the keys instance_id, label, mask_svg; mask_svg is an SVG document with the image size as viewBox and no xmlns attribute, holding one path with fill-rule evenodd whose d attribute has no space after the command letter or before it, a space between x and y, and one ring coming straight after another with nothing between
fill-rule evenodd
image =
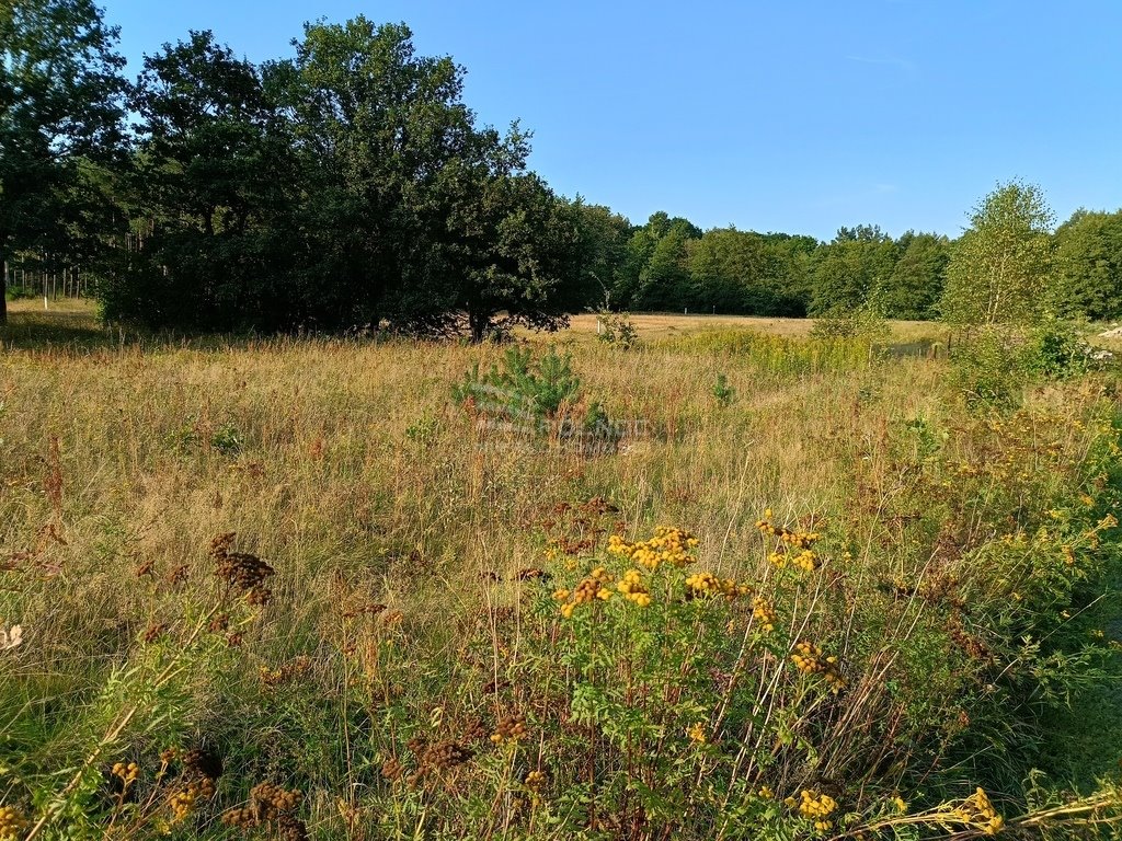
<instances>
[{"instance_id":1,"label":"dense dark clump of large trees, right of the far-left tree","mask_svg":"<svg viewBox=\"0 0 1122 841\"><path fill-rule=\"evenodd\" d=\"M564 324L585 288L562 278L595 262L580 209L526 169L517 124L476 124L462 77L362 17L263 66L210 33L149 56L117 196L144 248L104 272L107 317L475 342Z\"/></svg>"}]
</instances>

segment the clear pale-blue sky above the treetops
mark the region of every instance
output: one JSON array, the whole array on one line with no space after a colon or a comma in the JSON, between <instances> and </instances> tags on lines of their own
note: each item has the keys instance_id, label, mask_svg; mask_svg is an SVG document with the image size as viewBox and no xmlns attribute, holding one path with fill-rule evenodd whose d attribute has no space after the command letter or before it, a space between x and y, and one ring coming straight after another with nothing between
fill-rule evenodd
<instances>
[{"instance_id":1,"label":"clear pale-blue sky above the treetops","mask_svg":"<svg viewBox=\"0 0 1122 841\"><path fill-rule=\"evenodd\" d=\"M1122 205L1119 0L100 1L132 73L192 28L263 61L309 19L404 21L557 191L633 222L955 235L1013 177L1059 221Z\"/></svg>"}]
</instances>

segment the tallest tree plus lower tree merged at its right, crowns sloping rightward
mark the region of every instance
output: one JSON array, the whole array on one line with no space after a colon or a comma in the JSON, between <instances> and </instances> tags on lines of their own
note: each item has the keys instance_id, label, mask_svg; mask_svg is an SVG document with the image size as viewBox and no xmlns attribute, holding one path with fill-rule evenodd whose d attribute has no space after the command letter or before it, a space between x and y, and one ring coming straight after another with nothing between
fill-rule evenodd
<instances>
[{"instance_id":1,"label":"tallest tree plus lower tree merged at its right, crowns sloping rightward","mask_svg":"<svg viewBox=\"0 0 1122 841\"><path fill-rule=\"evenodd\" d=\"M462 67L417 56L403 25L359 17L309 25L269 76L302 163L314 325L465 327L478 340L499 313L559 323L571 225L526 170L528 136L476 126Z\"/></svg>"}]
</instances>

